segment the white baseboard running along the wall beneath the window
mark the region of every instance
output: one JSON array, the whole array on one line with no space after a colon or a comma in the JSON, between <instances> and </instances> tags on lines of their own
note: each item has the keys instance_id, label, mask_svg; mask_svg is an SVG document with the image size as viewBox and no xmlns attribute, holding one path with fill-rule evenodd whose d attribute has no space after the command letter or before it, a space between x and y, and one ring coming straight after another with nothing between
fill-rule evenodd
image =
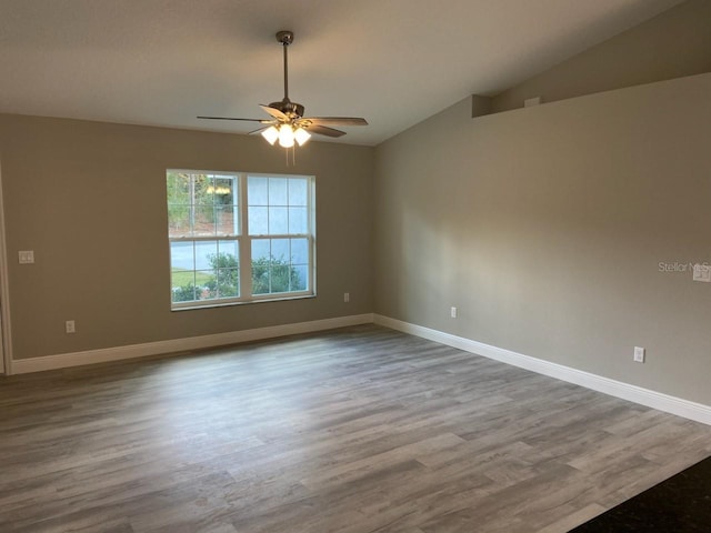
<instances>
[{"instance_id":1,"label":"white baseboard running along the wall beneath the window","mask_svg":"<svg viewBox=\"0 0 711 533\"><path fill-rule=\"evenodd\" d=\"M46 355L42 358L16 359L12 361L12 373L23 374L28 372L40 372L43 370L79 366L82 364L106 363L109 361L119 361L123 359L144 358L148 355L158 355L162 353L186 352L189 350L222 346L226 344L238 344L240 342L273 339L278 336L293 335L297 333L311 333L314 331L332 330L336 328L368 324L372 322L373 315L371 313L356 314L351 316L314 320L311 322L299 322L296 324L273 325L253 330L217 333L213 335L171 339L169 341L148 342L144 344L131 344L128 346L104 348L99 350L87 350L84 352L60 353L57 355Z\"/></svg>"}]
</instances>

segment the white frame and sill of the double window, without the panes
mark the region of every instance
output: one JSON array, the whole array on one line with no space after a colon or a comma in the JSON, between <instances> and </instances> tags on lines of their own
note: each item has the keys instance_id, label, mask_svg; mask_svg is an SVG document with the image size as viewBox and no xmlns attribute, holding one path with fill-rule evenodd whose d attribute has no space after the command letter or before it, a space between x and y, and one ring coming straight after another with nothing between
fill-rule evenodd
<instances>
[{"instance_id":1,"label":"white frame and sill of the double window, without the panes","mask_svg":"<svg viewBox=\"0 0 711 533\"><path fill-rule=\"evenodd\" d=\"M246 303L273 302L282 300L297 300L316 296L316 177L303 174L279 174L279 173L259 173L259 172L226 172L211 170L194 169L167 169L169 172L182 172L190 174L208 174L218 178L234 179L237 187L237 215L234 234L216 234L216 235L190 235L190 237L170 237L168 232L168 253L169 253L169 285L170 285L170 308L171 311L194 310L204 308L217 308L224 305L239 305ZM284 179L306 179L308 184L307 195L307 233L282 233L282 234L250 234L249 230L249 194L248 179L256 178L284 178ZM194 199L192 199L194 201ZM166 202L168 205L168 202ZM168 213L167 213L168 217ZM170 223L170 220L169 220ZM261 239L307 239L308 241L308 280L307 289L303 291L278 292L266 294L252 294L252 241ZM239 296L214 298L206 300L190 300L182 302L173 302L172 300L172 242L200 242L200 241L230 241L237 242L239 249Z\"/></svg>"}]
</instances>

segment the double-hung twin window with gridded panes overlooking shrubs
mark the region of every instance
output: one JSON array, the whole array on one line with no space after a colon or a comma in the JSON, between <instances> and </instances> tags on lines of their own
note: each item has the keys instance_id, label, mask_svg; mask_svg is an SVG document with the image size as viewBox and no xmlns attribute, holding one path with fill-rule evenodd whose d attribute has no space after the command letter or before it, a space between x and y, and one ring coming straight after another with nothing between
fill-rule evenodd
<instances>
[{"instance_id":1,"label":"double-hung twin window with gridded panes overlooking shrubs","mask_svg":"<svg viewBox=\"0 0 711 533\"><path fill-rule=\"evenodd\" d=\"M314 180L169 170L172 309L314 294Z\"/></svg>"}]
</instances>

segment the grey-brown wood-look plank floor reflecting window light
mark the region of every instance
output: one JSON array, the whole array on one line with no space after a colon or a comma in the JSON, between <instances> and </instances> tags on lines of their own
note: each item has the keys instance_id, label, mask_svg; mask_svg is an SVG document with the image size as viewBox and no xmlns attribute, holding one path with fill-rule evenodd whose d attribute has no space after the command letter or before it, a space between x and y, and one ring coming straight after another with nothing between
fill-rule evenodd
<instances>
[{"instance_id":1,"label":"grey-brown wood-look plank floor reflecting window light","mask_svg":"<svg viewBox=\"0 0 711 533\"><path fill-rule=\"evenodd\" d=\"M711 428L375 325L0 378L0 531L567 532Z\"/></svg>"}]
</instances>

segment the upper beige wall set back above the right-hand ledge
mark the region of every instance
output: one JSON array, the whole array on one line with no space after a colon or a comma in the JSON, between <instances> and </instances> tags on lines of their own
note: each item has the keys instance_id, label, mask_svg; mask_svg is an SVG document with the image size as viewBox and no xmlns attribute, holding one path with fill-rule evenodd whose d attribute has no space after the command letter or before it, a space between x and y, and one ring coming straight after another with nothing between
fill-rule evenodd
<instances>
[{"instance_id":1,"label":"upper beige wall set back above the right-hand ledge","mask_svg":"<svg viewBox=\"0 0 711 533\"><path fill-rule=\"evenodd\" d=\"M689 0L491 99L491 112L711 71L711 1Z\"/></svg>"}]
</instances>

